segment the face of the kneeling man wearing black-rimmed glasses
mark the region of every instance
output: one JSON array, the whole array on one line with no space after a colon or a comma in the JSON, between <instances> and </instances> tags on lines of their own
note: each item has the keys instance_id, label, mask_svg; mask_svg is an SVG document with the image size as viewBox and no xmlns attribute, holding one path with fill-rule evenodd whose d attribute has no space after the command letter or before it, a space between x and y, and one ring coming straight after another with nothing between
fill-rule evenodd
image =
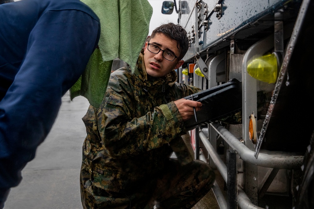
<instances>
[{"instance_id":1,"label":"face of the kneeling man wearing black-rimmed glasses","mask_svg":"<svg viewBox=\"0 0 314 209\"><path fill-rule=\"evenodd\" d=\"M150 39L149 43L158 46L162 50L169 51L176 56L180 56L176 40L170 39L164 34L156 34L154 38ZM166 60L162 55L163 51L160 50L159 53L154 54L147 47L148 42L145 43L144 62L147 74L152 77L163 77L184 63L183 60L178 60L178 58L175 58L173 61Z\"/></svg>"}]
</instances>

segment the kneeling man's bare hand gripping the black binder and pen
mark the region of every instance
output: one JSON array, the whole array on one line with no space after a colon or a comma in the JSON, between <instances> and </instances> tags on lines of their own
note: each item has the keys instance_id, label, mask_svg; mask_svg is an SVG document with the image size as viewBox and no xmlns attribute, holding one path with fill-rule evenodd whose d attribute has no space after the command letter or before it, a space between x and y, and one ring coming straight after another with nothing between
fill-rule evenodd
<instances>
[{"instance_id":1,"label":"kneeling man's bare hand gripping the black binder and pen","mask_svg":"<svg viewBox=\"0 0 314 209\"><path fill-rule=\"evenodd\" d=\"M201 110L202 103L196 102L187 99L179 99L174 101L183 120L187 120L194 116L193 107L195 107L196 111Z\"/></svg>"}]
</instances>

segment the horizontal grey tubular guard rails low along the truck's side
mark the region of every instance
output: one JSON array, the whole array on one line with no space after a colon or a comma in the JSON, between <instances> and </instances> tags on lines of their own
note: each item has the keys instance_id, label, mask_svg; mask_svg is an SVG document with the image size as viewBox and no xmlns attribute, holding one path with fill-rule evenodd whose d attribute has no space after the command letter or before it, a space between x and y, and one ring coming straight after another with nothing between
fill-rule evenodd
<instances>
[{"instance_id":1,"label":"horizontal grey tubular guard rails low along the truck's side","mask_svg":"<svg viewBox=\"0 0 314 209\"><path fill-rule=\"evenodd\" d=\"M217 133L219 133L219 135L225 140L225 142L227 142L232 147L232 149L236 151L241 159L245 160L248 163L275 169L299 168L302 164L303 156L294 155L293 153L285 153L283 156L282 152L261 152L258 159L256 159L254 157L254 151L247 148L219 123L210 123L210 126L212 126L215 131L217 131ZM225 180L225 182L227 182L227 166L220 159L216 149L212 146L212 144L210 144L207 136L203 133L202 130L199 131L199 138L203 142L205 149L208 151L208 154L216 165L217 170L219 170L222 178ZM258 207L254 203L252 203L250 198L246 195L246 193L239 185L237 186L237 191L237 203L241 207L241 209L262 209L262 207ZM213 192L216 198L217 196L221 198L220 190L218 190L217 188L213 188ZM222 202L225 204L219 204L219 207L222 209L227 208L226 201L222 201L221 199L219 199L218 203Z\"/></svg>"}]
</instances>

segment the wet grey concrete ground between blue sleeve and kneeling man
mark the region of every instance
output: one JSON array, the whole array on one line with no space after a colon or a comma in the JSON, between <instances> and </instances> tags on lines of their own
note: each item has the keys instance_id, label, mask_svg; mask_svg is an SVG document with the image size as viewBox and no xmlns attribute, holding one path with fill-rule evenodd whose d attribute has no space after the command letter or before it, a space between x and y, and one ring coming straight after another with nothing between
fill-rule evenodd
<instances>
[{"instance_id":1,"label":"wet grey concrete ground between blue sleeve and kneeling man","mask_svg":"<svg viewBox=\"0 0 314 209\"><path fill-rule=\"evenodd\" d=\"M22 171L22 182L11 189L4 209L82 208L79 173L86 136L82 117L88 106L81 96L70 101L67 93L62 98L51 132ZM193 207L208 208L219 209L212 190Z\"/></svg>"}]
</instances>

